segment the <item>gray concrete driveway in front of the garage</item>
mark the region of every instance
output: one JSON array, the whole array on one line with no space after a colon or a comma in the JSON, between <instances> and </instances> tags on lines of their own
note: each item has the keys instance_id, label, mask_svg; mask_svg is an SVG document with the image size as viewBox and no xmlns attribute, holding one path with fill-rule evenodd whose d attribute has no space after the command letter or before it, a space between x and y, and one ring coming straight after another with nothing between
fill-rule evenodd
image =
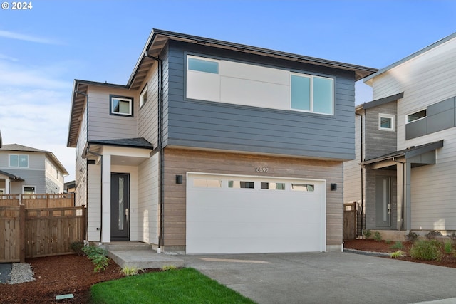
<instances>
[{"instance_id":1,"label":"gray concrete driveway in front of the garage","mask_svg":"<svg viewBox=\"0 0 456 304\"><path fill-rule=\"evenodd\" d=\"M179 258L257 303L456 303L456 268L341 252Z\"/></svg>"}]
</instances>

